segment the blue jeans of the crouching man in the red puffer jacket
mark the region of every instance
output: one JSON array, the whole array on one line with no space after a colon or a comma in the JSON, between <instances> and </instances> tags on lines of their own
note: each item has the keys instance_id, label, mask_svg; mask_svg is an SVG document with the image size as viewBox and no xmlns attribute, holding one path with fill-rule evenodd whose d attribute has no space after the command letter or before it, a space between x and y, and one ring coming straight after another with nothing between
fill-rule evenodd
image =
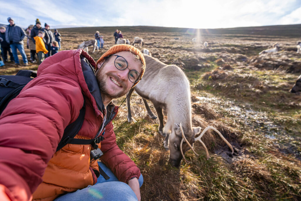
<instances>
[{"instance_id":1,"label":"blue jeans of the crouching man in the red puffer jacket","mask_svg":"<svg viewBox=\"0 0 301 201\"><path fill-rule=\"evenodd\" d=\"M118 181L117 177L107 166L98 162L103 171L110 177L106 180L99 176L97 183L84 189L77 190L73 193L67 193L54 199L55 201L93 201L93 200L137 200L136 194L128 184ZM139 185L143 184L142 174L140 175Z\"/></svg>"}]
</instances>

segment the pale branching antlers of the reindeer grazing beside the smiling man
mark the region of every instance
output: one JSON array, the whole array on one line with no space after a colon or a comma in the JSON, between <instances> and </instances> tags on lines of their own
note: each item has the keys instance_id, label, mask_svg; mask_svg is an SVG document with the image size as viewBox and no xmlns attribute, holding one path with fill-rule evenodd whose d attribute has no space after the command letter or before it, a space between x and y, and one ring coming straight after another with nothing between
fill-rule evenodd
<instances>
[{"instance_id":1,"label":"pale branching antlers of the reindeer grazing beside the smiling man","mask_svg":"<svg viewBox=\"0 0 301 201\"><path fill-rule=\"evenodd\" d=\"M183 128L182 128L182 123L180 123L180 129L181 129L181 132L182 132L182 140L181 140L181 144L180 144L180 150L181 150L181 153L182 153L182 156L183 156L183 159L186 161L186 162L189 162L188 160L186 160L185 158L185 155L183 153L183 149L182 149L182 144L183 144L183 141L185 140L185 142L188 144L188 146L191 148L191 150L194 152L195 155L198 156L198 154L194 151L194 149L192 148L191 144L188 142L188 140L186 139L185 135L184 135L184 132L183 132ZM232 154L234 153L234 149L232 147L232 145L225 139L225 137L222 135L222 133L220 133L216 128L212 127L212 126L207 126L203 132L196 138L194 138L194 141L198 140L200 141L200 143L203 145L205 151L206 151L206 156L207 156L207 159L210 158L209 156L209 152L208 152L208 149L206 147L206 145L203 143L203 141L201 140L201 137L203 137L204 133L209 130L209 129L212 129L214 130L216 133L219 134L219 136L225 141L225 143L230 147L231 151L232 151Z\"/></svg>"}]
</instances>

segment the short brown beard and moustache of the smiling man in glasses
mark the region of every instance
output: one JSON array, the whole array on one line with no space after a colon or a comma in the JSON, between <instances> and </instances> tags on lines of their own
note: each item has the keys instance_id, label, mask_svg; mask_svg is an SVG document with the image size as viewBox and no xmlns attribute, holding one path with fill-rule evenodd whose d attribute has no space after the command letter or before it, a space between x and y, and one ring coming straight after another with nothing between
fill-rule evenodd
<instances>
[{"instance_id":1,"label":"short brown beard and moustache of the smiling man in glasses","mask_svg":"<svg viewBox=\"0 0 301 201\"><path fill-rule=\"evenodd\" d=\"M100 68L98 70L98 72L96 73L96 80L97 80L97 83L98 83L98 87L99 87L99 90L101 92L101 96L104 100L106 101L111 101L112 99L114 98L119 98L123 95L126 94L127 90L126 90L126 83L124 83L123 81L121 81L119 79L119 77L117 77L116 75L114 75L113 73L106 73L106 74L102 74L102 69L103 68ZM118 93L112 93L110 94L109 93L109 90L108 90L108 86L107 86L107 77L113 77L123 88L122 91L118 92ZM118 87L118 86L116 86ZM104 101L103 100L103 101Z\"/></svg>"}]
</instances>

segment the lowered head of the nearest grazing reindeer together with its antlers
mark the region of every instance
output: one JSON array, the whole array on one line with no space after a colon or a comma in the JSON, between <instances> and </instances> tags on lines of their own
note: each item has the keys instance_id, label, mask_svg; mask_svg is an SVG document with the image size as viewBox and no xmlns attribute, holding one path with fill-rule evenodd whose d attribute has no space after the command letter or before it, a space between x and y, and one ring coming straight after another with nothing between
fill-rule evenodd
<instances>
[{"instance_id":1,"label":"lowered head of the nearest grazing reindeer together with its antlers","mask_svg":"<svg viewBox=\"0 0 301 201\"><path fill-rule=\"evenodd\" d=\"M182 128L182 123L180 123L180 125L175 124L174 134L172 132L171 136L169 137L169 150L170 150L169 159L170 159L170 162L172 163L172 165L174 165L175 167L178 167L181 164L181 160L183 158L186 162L189 162L185 159L185 152L189 149L191 149L195 155L198 155L194 151L193 146L191 146L191 144L193 145L193 143L195 141L200 141L200 143L203 145L203 147L206 151L207 159L209 159L209 152L208 152L205 144L201 140L201 137L203 136L203 134L206 133L206 131L209 129L212 129L216 133L218 133L219 136L230 147L232 154L234 153L234 149L233 149L232 145L228 142L228 140L226 140L224 138L222 133L220 133L218 130L216 130L216 128L214 128L212 126L207 126L198 137L194 138L195 135L200 133L201 128L200 127L192 127L192 131L185 130L186 131L185 132ZM180 144L180 146L178 146L179 144Z\"/></svg>"}]
</instances>

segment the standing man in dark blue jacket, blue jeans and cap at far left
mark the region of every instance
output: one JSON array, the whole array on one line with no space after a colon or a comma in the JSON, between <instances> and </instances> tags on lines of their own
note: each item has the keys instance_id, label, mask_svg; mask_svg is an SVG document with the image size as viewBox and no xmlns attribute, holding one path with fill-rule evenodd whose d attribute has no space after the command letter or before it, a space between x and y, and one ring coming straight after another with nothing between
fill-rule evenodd
<instances>
[{"instance_id":1,"label":"standing man in dark blue jacket, blue jeans and cap at far left","mask_svg":"<svg viewBox=\"0 0 301 201\"><path fill-rule=\"evenodd\" d=\"M11 17L7 18L9 24L7 25L6 32L5 32L5 40L10 44L11 51L14 55L15 65L19 65L19 58L17 49L22 55L23 64L28 65L28 60L24 51L24 42L23 39L26 38L25 31L21 28L16 26L14 20Z\"/></svg>"}]
</instances>

